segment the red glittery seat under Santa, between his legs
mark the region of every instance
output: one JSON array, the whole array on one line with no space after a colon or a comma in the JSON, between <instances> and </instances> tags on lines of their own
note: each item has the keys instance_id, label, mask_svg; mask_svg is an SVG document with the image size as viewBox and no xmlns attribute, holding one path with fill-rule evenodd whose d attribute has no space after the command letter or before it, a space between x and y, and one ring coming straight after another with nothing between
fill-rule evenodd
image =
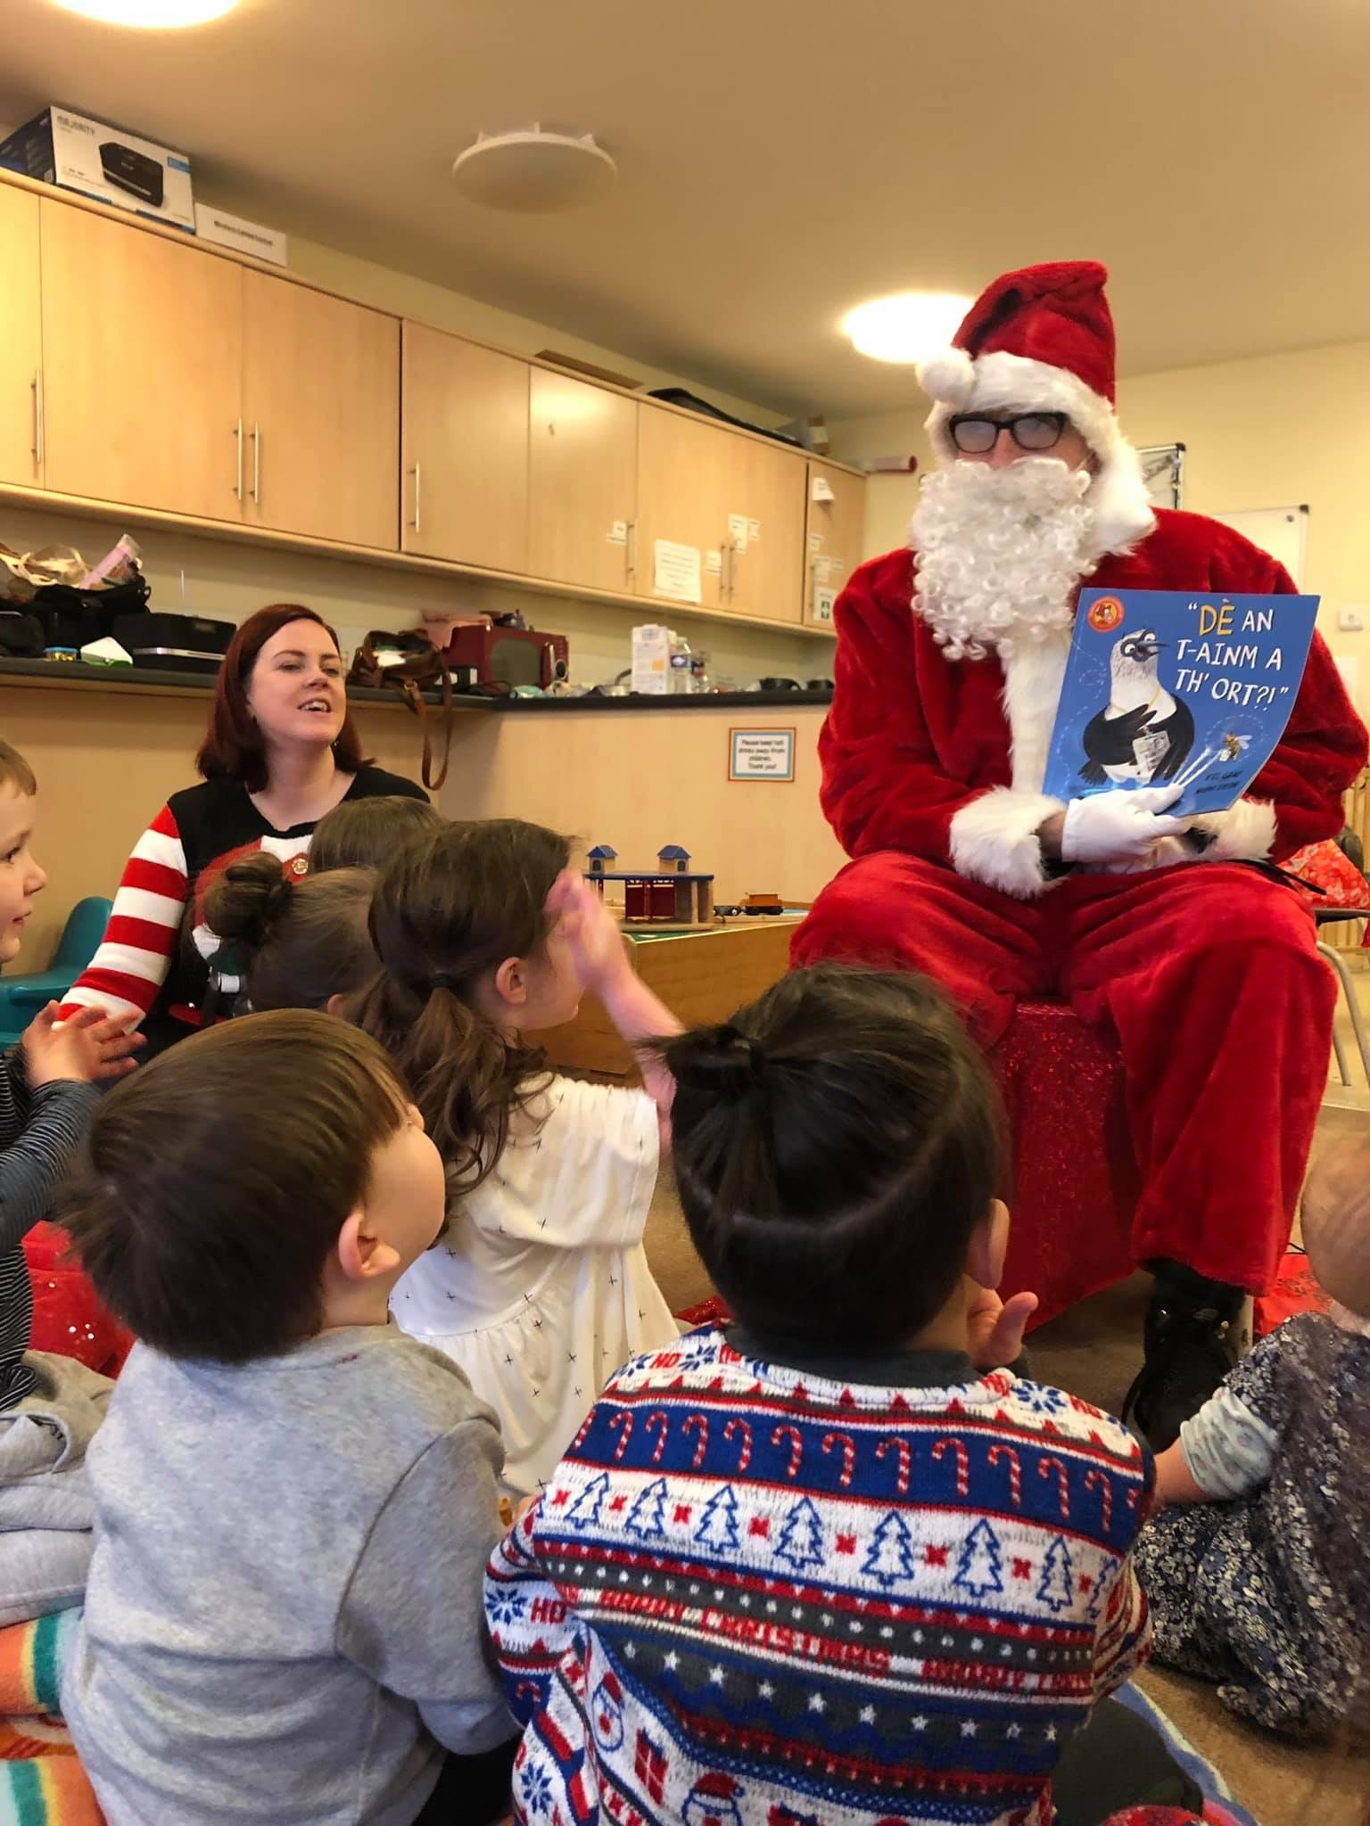
<instances>
[{"instance_id":1,"label":"red glittery seat under Santa, between his legs","mask_svg":"<svg viewBox=\"0 0 1370 1826\"><path fill-rule=\"evenodd\" d=\"M1054 1318L1133 1271L1136 1161L1118 1048L1065 1002L1021 1002L990 1054L1014 1149L1014 1227L1001 1293Z\"/></svg>"}]
</instances>

